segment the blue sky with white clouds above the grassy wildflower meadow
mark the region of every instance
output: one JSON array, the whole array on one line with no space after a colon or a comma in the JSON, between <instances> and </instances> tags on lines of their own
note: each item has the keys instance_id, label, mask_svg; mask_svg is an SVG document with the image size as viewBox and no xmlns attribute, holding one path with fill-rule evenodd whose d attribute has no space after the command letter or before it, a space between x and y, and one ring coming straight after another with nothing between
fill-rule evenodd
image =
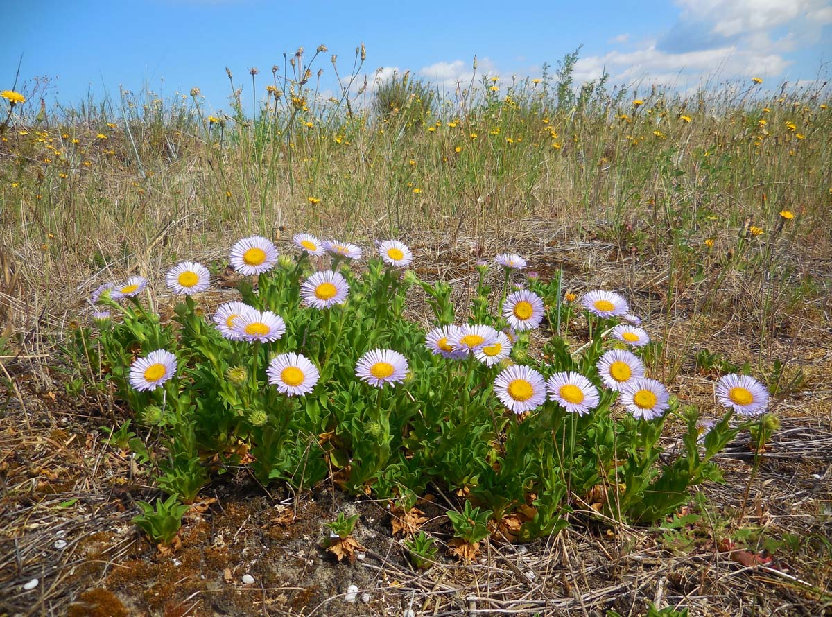
<instances>
[{"instance_id":1,"label":"blue sky with white clouds above the grassy wildflower meadow","mask_svg":"<svg viewBox=\"0 0 832 617\"><path fill-rule=\"evenodd\" d=\"M363 73L409 69L453 87L480 74L539 77L582 45L576 81L606 70L615 83L653 81L682 90L703 77L809 81L829 74L832 0L676 0L676 2L265 2L262 0L82 0L4 2L7 27L0 89L46 76L52 96L73 105L87 91L117 96L123 86L163 95L199 86L213 109L227 108L225 67L249 96L250 67L260 89L271 67L305 47L329 51L315 62L325 90L337 88L364 42ZM827 63L824 65L824 63ZM825 69L823 67L826 67ZM18 89L20 89L18 87ZM250 101L250 99L249 99Z\"/></svg>"}]
</instances>

